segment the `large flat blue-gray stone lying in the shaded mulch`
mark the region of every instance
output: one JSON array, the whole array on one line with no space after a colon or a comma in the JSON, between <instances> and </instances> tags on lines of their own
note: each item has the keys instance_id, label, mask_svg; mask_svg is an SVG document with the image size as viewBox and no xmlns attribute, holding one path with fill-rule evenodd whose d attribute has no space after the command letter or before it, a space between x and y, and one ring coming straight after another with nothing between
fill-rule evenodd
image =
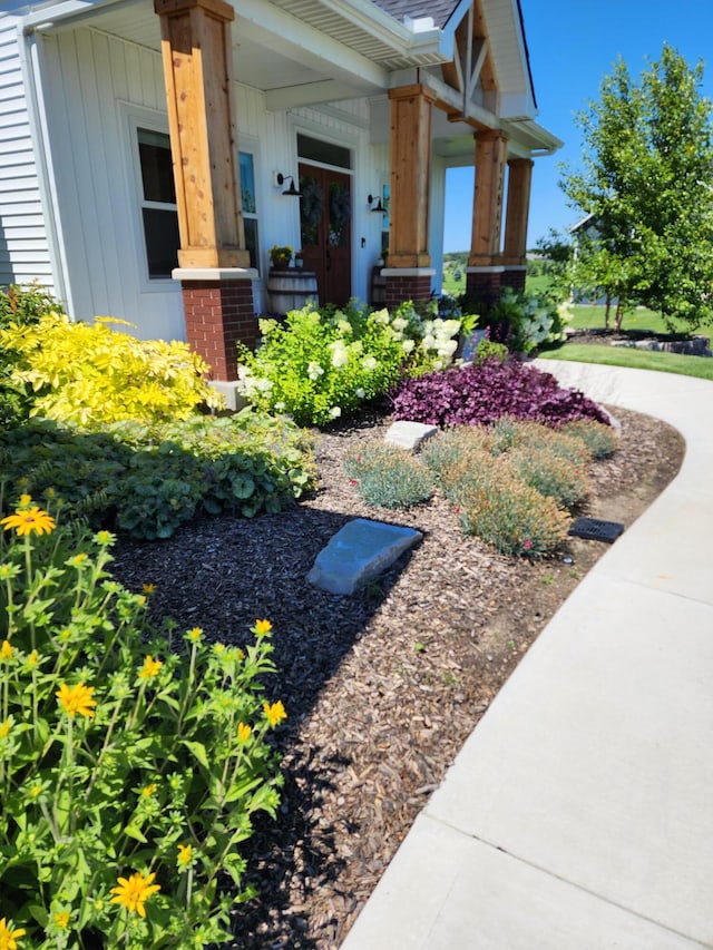
<instances>
[{"instance_id":1,"label":"large flat blue-gray stone lying in the shaded mulch","mask_svg":"<svg viewBox=\"0 0 713 950\"><path fill-rule=\"evenodd\" d=\"M353 594L420 541L413 528L354 518L314 559L307 580L330 594Z\"/></svg>"}]
</instances>

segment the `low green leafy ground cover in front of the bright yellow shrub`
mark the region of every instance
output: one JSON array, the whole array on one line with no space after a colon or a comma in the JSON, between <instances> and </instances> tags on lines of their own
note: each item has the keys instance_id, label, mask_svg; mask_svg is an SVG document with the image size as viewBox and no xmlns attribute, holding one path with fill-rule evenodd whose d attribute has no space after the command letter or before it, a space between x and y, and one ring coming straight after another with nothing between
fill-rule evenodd
<instances>
[{"instance_id":1,"label":"low green leafy ground cover in front of the bright yellow shrub","mask_svg":"<svg viewBox=\"0 0 713 950\"><path fill-rule=\"evenodd\" d=\"M99 432L30 420L0 432L0 466L16 496L50 491L137 538L167 538L197 513L280 511L315 472L304 431L251 410Z\"/></svg>"}]
</instances>

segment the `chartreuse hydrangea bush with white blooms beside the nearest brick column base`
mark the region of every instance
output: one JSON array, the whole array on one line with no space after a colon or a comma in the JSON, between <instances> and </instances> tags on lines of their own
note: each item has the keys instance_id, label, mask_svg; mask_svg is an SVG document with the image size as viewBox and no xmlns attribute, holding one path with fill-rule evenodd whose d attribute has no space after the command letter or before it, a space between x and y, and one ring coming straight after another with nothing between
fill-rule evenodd
<instances>
[{"instance_id":1,"label":"chartreuse hydrangea bush with white blooms beside the nearest brick column base","mask_svg":"<svg viewBox=\"0 0 713 950\"><path fill-rule=\"evenodd\" d=\"M285 322L262 320L256 352L238 345L243 395L300 425L324 425L383 396L403 373L448 365L459 320L422 317L411 303L389 313L350 304L304 307Z\"/></svg>"}]
</instances>

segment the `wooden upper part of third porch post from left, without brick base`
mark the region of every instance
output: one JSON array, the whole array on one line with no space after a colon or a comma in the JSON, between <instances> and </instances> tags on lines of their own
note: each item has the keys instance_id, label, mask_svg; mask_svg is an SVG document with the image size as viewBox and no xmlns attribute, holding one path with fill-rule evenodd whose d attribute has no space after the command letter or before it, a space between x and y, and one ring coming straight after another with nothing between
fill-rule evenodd
<instances>
[{"instance_id":1,"label":"wooden upper part of third porch post from left, without brick base","mask_svg":"<svg viewBox=\"0 0 713 950\"><path fill-rule=\"evenodd\" d=\"M500 256L502 188L508 140L501 131L477 133L476 194L468 264L495 264Z\"/></svg>"}]
</instances>

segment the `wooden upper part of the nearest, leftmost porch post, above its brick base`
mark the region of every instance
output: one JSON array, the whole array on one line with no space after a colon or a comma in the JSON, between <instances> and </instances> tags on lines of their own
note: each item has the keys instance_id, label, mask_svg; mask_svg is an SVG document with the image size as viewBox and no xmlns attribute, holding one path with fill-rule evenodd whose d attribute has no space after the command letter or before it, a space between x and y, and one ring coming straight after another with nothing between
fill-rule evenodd
<instances>
[{"instance_id":1,"label":"wooden upper part of the nearest, leftmost porch post, above its brick base","mask_svg":"<svg viewBox=\"0 0 713 950\"><path fill-rule=\"evenodd\" d=\"M224 0L154 0L160 18L180 267L248 267Z\"/></svg>"}]
</instances>

